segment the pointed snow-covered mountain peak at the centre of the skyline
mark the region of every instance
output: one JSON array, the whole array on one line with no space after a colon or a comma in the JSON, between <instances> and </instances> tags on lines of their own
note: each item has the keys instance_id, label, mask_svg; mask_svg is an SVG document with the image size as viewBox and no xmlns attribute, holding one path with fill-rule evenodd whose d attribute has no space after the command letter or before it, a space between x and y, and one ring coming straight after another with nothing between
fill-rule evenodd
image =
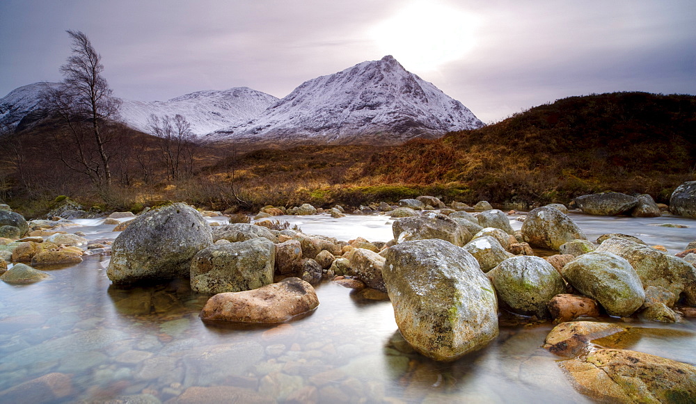
<instances>
[{"instance_id":1,"label":"pointed snow-covered mountain peak at the centre of the skyline","mask_svg":"<svg viewBox=\"0 0 696 404\"><path fill-rule=\"evenodd\" d=\"M209 138L246 142L401 143L475 129L461 102L404 70L392 56L304 82L258 118Z\"/></svg>"}]
</instances>

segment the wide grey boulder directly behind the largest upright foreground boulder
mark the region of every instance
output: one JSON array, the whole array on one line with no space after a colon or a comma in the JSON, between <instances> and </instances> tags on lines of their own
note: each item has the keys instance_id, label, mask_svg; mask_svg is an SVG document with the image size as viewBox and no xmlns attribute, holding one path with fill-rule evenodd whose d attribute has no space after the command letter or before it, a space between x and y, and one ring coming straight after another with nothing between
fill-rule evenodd
<instances>
[{"instance_id":1,"label":"wide grey boulder directly behind the largest upright foreground boulder","mask_svg":"<svg viewBox=\"0 0 696 404\"><path fill-rule=\"evenodd\" d=\"M437 213L397 219L392 232L397 242L441 239L461 247L471 239L471 234L457 221Z\"/></svg>"}]
</instances>

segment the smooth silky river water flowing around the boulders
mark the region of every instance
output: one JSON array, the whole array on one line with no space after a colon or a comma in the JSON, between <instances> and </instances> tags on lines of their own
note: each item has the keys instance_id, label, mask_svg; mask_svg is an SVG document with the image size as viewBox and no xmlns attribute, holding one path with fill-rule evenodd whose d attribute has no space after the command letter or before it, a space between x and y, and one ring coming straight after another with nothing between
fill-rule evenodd
<instances>
[{"instance_id":1,"label":"smooth silky river water flowing around the boulders","mask_svg":"<svg viewBox=\"0 0 696 404\"><path fill-rule=\"evenodd\" d=\"M593 241L609 232L633 234L674 253L696 239L696 220L571 217ZM343 240L392 236L388 216L274 219ZM118 235L102 220L76 222L79 227L66 230L82 231L90 241ZM662 223L689 227L656 226ZM393 309L370 289L323 282L316 288L319 307L294 322L206 325L198 313L209 295L193 293L187 280L113 286L106 277L108 260L86 257L75 266L40 268L52 277L35 284L0 282L0 391L60 372L72 377L65 403L126 394L152 394L164 402L192 386L234 386L280 402L303 386L316 387L319 401L337 403L590 401L560 371L559 358L541 348L551 323L503 319L500 336L489 346L445 364L395 349L400 344L390 342L398 333ZM696 364L693 321L665 325L636 318L632 325L646 329L603 344Z\"/></svg>"}]
</instances>

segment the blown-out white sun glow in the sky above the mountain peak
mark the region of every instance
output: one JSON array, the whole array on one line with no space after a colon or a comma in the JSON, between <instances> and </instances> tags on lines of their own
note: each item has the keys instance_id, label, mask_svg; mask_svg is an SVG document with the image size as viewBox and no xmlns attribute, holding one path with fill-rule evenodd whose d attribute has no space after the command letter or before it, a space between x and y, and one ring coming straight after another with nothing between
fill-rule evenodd
<instances>
[{"instance_id":1,"label":"blown-out white sun glow in the sky above the mountain peak","mask_svg":"<svg viewBox=\"0 0 696 404\"><path fill-rule=\"evenodd\" d=\"M476 45L480 19L432 1L416 1L372 29L383 54L393 55L406 69L436 70L465 56Z\"/></svg>"}]
</instances>

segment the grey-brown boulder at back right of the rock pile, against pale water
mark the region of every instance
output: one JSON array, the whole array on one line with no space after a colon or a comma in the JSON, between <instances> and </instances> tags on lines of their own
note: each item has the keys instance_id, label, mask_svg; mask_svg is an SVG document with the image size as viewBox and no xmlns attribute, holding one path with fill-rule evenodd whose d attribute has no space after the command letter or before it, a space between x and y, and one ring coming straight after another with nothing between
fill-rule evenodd
<instances>
[{"instance_id":1,"label":"grey-brown boulder at back right of the rock pile, against pale water","mask_svg":"<svg viewBox=\"0 0 696 404\"><path fill-rule=\"evenodd\" d=\"M587 240L585 232L571 218L550 207L530 211L522 223L522 238L525 243L550 250L558 250L571 240Z\"/></svg>"}]
</instances>

